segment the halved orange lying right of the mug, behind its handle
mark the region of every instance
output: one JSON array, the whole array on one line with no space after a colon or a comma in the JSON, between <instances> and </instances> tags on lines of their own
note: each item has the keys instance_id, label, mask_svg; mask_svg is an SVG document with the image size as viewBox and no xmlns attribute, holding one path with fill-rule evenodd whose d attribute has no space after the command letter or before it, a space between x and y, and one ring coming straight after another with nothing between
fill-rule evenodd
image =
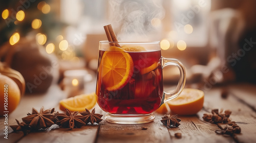
<instances>
[{"instance_id":1,"label":"halved orange lying right of the mug, behind its handle","mask_svg":"<svg viewBox=\"0 0 256 143\"><path fill-rule=\"evenodd\" d=\"M170 110L178 115L193 115L203 108L204 92L199 89L185 88L181 94L168 101Z\"/></svg>"}]
</instances>

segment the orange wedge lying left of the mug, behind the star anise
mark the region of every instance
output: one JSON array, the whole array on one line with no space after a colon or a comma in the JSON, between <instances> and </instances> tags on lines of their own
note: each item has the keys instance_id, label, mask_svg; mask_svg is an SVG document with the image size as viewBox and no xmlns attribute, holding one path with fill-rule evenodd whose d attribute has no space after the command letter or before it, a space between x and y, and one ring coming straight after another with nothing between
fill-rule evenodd
<instances>
[{"instance_id":1,"label":"orange wedge lying left of the mug, behind the star anise","mask_svg":"<svg viewBox=\"0 0 256 143\"><path fill-rule=\"evenodd\" d=\"M68 99L63 99L59 102L59 109L66 111L66 108L70 111L82 112L86 108L92 109L96 104L96 94L95 92L89 94L81 94Z\"/></svg>"}]
</instances>

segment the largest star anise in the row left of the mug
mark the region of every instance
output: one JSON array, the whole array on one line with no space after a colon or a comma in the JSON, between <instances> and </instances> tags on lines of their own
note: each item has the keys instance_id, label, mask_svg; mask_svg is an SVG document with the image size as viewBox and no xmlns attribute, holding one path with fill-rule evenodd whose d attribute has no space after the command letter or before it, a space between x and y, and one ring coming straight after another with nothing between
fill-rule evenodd
<instances>
[{"instance_id":1,"label":"largest star anise in the row left of the mug","mask_svg":"<svg viewBox=\"0 0 256 143\"><path fill-rule=\"evenodd\" d=\"M28 113L27 115L28 116L22 118L22 121L28 124L32 129L46 129L55 124L56 111L54 111L54 108L44 110L44 107L42 107L40 112L32 108L32 113Z\"/></svg>"}]
</instances>

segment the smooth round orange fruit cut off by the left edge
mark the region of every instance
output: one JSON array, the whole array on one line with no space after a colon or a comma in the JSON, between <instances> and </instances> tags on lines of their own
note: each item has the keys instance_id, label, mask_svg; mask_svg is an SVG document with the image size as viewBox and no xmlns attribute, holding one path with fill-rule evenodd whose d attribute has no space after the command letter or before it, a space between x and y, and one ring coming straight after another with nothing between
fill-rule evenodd
<instances>
[{"instance_id":1,"label":"smooth round orange fruit cut off by the left edge","mask_svg":"<svg viewBox=\"0 0 256 143\"><path fill-rule=\"evenodd\" d=\"M20 90L11 78L2 74L0 74L0 95L0 116L4 116L6 113L11 113L18 106Z\"/></svg>"}]
</instances>

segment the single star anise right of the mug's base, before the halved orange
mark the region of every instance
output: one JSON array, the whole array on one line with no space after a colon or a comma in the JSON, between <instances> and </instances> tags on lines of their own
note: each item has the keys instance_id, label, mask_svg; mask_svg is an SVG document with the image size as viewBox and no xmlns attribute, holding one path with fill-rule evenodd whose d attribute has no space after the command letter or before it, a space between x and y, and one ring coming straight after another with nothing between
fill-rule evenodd
<instances>
[{"instance_id":1,"label":"single star anise right of the mug's base, before the halved orange","mask_svg":"<svg viewBox=\"0 0 256 143\"><path fill-rule=\"evenodd\" d=\"M180 121L181 119L177 117L178 115L164 115L162 117L161 122L163 123L163 125L165 125L167 128L169 128L170 126L175 126L178 127L180 126Z\"/></svg>"}]
</instances>

